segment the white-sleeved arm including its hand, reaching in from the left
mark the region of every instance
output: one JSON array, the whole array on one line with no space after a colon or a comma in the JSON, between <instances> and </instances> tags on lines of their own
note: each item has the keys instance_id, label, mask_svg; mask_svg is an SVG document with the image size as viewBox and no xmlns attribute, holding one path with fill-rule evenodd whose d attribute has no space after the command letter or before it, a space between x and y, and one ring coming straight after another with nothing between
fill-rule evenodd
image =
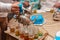
<instances>
[{"instance_id":1,"label":"white-sleeved arm including its hand, reaching in from the left","mask_svg":"<svg viewBox=\"0 0 60 40\"><path fill-rule=\"evenodd\" d=\"M0 2L0 12L13 12L15 14L19 13L19 2L16 3L2 3Z\"/></svg>"}]
</instances>

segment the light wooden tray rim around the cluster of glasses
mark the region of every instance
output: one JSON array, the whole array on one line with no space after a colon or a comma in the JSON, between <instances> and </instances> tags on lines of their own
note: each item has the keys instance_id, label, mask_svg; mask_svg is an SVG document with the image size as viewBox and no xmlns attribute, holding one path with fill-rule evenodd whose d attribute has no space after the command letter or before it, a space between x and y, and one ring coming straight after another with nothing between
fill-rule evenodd
<instances>
[{"instance_id":1,"label":"light wooden tray rim around the cluster of glasses","mask_svg":"<svg viewBox=\"0 0 60 40\"><path fill-rule=\"evenodd\" d=\"M43 36L42 36L41 38L39 38L39 40L43 40L43 39L45 39L45 37L48 35L48 33L47 33L47 31L45 31L42 27L40 27L40 31L43 32ZM14 37L14 38L16 38L16 39L18 39L18 40L21 40L20 36L16 36L15 33L10 33L9 30L4 31L4 32L5 32L6 34L10 35L11 37ZM38 39L37 39L37 40L38 40Z\"/></svg>"}]
</instances>

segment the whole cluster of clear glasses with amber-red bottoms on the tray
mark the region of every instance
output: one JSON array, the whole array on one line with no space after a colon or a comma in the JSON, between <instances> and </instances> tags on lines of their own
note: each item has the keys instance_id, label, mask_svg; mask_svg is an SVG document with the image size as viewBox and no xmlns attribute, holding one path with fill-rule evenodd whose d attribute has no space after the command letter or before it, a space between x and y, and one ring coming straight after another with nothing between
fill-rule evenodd
<instances>
[{"instance_id":1,"label":"whole cluster of clear glasses with amber-red bottoms on the tray","mask_svg":"<svg viewBox=\"0 0 60 40\"><path fill-rule=\"evenodd\" d=\"M10 33L15 33L16 36L20 36L24 40L34 40L34 37L38 34L39 29L34 25L22 25L17 27L10 27Z\"/></svg>"}]
</instances>

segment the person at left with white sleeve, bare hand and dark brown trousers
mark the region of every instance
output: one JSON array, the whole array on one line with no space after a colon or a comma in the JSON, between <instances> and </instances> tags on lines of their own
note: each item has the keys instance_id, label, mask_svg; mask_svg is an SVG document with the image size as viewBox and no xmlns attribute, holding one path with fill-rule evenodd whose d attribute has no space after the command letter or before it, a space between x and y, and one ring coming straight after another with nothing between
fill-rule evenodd
<instances>
[{"instance_id":1,"label":"person at left with white sleeve, bare hand and dark brown trousers","mask_svg":"<svg viewBox=\"0 0 60 40\"><path fill-rule=\"evenodd\" d=\"M3 3L0 2L0 12L12 12L17 14L19 12L19 7L18 7L18 3ZM0 21L0 28L1 28L1 32L0 32L0 40L6 40L6 34L4 33L4 31L6 30L6 24L4 24L4 22Z\"/></svg>"}]
</instances>

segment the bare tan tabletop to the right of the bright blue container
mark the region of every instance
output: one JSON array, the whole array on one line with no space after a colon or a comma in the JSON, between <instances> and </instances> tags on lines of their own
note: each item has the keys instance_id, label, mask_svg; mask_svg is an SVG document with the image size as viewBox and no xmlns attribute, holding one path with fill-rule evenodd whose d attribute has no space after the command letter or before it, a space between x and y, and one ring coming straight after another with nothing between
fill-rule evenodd
<instances>
[{"instance_id":1,"label":"bare tan tabletop to the right of the bright blue container","mask_svg":"<svg viewBox=\"0 0 60 40\"><path fill-rule=\"evenodd\" d=\"M55 37L56 32L60 31L60 21L54 21L53 14L50 12L45 12L41 14L46 21L46 23L42 27L49 33L45 40L53 40L52 37Z\"/></svg>"}]
</instances>

